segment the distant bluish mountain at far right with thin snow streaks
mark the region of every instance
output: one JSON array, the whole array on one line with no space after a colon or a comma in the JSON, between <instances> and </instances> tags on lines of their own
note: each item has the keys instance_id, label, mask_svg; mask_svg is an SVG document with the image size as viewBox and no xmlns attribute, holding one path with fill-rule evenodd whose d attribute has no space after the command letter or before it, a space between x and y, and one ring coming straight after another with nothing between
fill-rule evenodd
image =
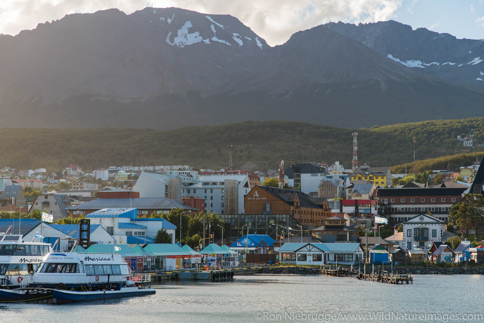
<instances>
[{"instance_id":1,"label":"distant bluish mountain at far right with thin snow streaks","mask_svg":"<svg viewBox=\"0 0 484 323\"><path fill-rule=\"evenodd\" d=\"M457 39L390 20L366 24L343 22L323 25L370 47L380 55L450 81L472 82L484 89L484 39Z\"/></svg>"}]
</instances>

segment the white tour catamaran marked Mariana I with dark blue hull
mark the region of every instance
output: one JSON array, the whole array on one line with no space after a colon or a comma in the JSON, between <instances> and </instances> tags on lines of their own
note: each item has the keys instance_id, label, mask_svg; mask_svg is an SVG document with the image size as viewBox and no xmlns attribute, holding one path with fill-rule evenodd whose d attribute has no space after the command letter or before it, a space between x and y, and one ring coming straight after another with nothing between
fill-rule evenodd
<instances>
[{"instance_id":1,"label":"white tour catamaran marked Mariana I with dark blue hull","mask_svg":"<svg viewBox=\"0 0 484 323\"><path fill-rule=\"evenodd\" d=\"M30 287L49 289L58 302L154 294L151 274L131 275L120 254L52 251L31 275Z\"/></svg>"}]
</instances>

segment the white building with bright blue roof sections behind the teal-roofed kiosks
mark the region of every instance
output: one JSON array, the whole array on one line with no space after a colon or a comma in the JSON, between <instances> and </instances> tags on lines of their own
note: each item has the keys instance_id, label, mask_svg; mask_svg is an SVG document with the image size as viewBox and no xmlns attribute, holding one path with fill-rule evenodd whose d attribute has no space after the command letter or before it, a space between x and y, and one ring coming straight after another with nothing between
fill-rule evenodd
<instances>
[{"instance_id":1,"label":"white building with bright blue roof sections behind the teal-roofed kiosks","mask_svg":"<svg viewBox=\"0 0 484 323\"><path fill-rule=\"evenodd\" d=\"M118 244L135 246L154 243L154 236L161 229L166 230L172 242L175 242L175 225L164 218L138 218L136 208L105 208L88 214L86 218L91 220L91 226L103 226Z\"/></svg>"}]
</instances>

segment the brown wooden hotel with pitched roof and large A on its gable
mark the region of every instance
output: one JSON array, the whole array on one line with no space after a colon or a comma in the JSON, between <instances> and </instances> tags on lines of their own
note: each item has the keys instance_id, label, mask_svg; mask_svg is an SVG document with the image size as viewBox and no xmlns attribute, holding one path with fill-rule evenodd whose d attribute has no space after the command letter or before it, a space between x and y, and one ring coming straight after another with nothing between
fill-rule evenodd
<instances>
[{"instance_id":1,"label":"brown wooden hotel with pitched roof and large A on its gable","mask_svg":"<svg viewBox=\"0 0 484 323\"><path fill-rule=\"evenodd\" d=\"M289 214L301 225L322 222L331 210L328 201L316 204L301 191L256 185L244 199L245 214Z\"/></svg>"}]
</instances>

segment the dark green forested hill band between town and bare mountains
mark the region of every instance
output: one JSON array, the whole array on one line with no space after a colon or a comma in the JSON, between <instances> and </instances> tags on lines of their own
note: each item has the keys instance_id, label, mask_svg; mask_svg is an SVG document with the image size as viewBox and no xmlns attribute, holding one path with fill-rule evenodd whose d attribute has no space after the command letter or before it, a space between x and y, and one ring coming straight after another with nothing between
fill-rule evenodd
<instances>
[{"instance_id":1,"label":"dark green forested hill band between town and bare mountains","mask_svg":"<svg viewBox=\"0 0 484 323\"><path fill-rule=\"evenodd\" d=\"M437 120L344 129L310 123L264 121L219 126L187 126L155 131L134 128L20 129L3 128L0 165L17 169L45 167L49 171L69 164L85 169L102 166L190 165L227 167L232 145L235 168L261 170L299 162L339 160L350 168L352 132L358 132L359 164L392 166L417 160L483 151L463 147L457 135L484 140L484 118ZM251 163L246 165L246 163Z\"/></svg>"}]
</instances>

